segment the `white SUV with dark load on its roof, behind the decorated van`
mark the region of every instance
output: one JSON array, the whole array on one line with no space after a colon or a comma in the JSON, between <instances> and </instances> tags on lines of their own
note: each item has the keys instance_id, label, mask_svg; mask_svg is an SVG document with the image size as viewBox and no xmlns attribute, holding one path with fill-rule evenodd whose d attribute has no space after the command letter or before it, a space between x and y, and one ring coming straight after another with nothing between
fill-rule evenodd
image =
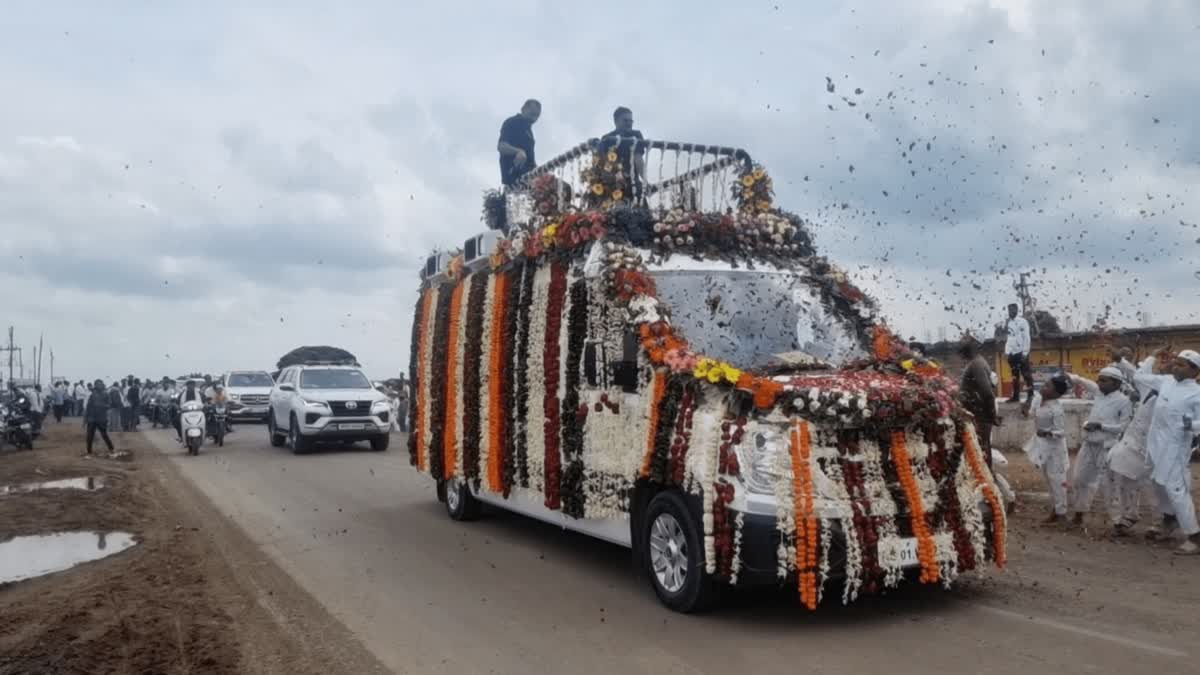
<instances>
[{"instance_id":1,"label":"white SUV with dark load on its roof, behind the decorated van","mask_svg":"<svg viewBox=\"0 0 1200 675\"><path fill-rule=\"evenodd\" d=\"M266 429L271 444L287 443L293 453L318 441L371 441L386 450L391 408L362 371L347 365L293 365L280 372L271 389Z\"/></svg>"}]
</instances>

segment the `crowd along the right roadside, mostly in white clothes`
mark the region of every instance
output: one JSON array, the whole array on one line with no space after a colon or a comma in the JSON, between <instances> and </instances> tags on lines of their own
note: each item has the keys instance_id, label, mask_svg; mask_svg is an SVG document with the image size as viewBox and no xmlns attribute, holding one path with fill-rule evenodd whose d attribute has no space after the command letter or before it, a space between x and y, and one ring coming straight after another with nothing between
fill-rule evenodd
<instances>
[{"instance_id":1,"label":"crowd along the right roadside, mostly in white clothes","mask_svg":"<svg viewBox=\"0 0 1200 675\"><path fill-rule=\"evenodd\" d=\"M1144 494L1153 495L1157 514L1148 539L1178 537L1176 552L1200 554L1200 522L1192 497L1190 459L1200 442L1200 353L1163 348L1134 365L1128 347L1115 347L1111 363L1092 381L1057 372L1034 389L1030 366L1028 322L1009 306L1004 354L1013 372L1013 394L1019 402L1022 380L1028 395L1021 414L1033 418L1033 436L1025 444L1031 462L1043 474L1050 494L1045 524L1068 521L1081 526L1102 496L1116 536L1133 532ZM964 338L961 356L967 364L960 392L964 406L976 418L985 456L992 456L991 434L1002 423L995 395L995 376L979 353L979 344ZM1082 425L1082 443L1074 465L1067 448L1062 398L1081 389L1092 399ZM1008 500L1015 498L1001 485Z\"/></svg>"}]
</instances>

